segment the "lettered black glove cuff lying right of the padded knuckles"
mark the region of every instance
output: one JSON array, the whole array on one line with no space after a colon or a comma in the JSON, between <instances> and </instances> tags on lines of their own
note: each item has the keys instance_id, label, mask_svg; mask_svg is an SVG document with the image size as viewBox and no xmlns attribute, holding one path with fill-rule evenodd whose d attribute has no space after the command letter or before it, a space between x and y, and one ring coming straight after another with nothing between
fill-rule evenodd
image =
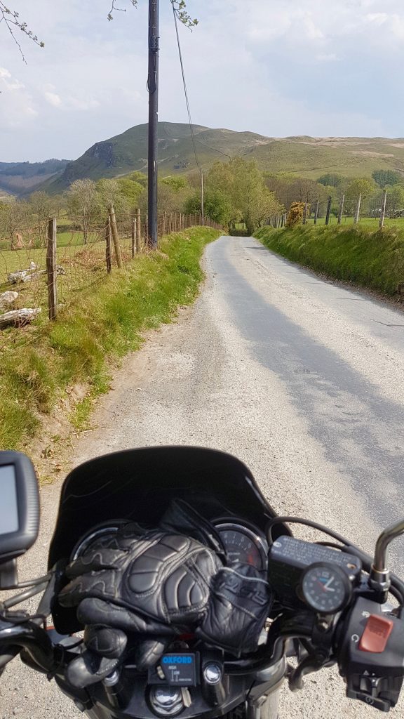
<instances>
[{"instance_id":1,"label":"lettered black glove cuff lying right of the padded knuckles","mask_svg":"<svg viewBox=\"0 0 404 719\"><path fill-rule=\"evenodd\" d=\"M255 567L223 567L214 578L208 611L196 635L235 656L256 651L272 600L270 585Z\"/></svg>"}]
</instances>

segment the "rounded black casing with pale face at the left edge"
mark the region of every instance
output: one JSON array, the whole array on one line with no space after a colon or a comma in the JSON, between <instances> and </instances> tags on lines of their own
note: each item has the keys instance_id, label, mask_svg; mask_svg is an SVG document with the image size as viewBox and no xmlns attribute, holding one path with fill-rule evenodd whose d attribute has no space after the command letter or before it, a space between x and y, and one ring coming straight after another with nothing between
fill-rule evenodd
<instances>
[{"instance_id":1,"label":"rounded black casing with pale face at the left edge","mask_svg":"<svg viewBox=\"0 0 404 719\"><path fill-rule=\"evenodd\" d=\"M39 527L34 465L21 452L0 452L0 572L34 544Z\"/></svg>"}]
</instances>

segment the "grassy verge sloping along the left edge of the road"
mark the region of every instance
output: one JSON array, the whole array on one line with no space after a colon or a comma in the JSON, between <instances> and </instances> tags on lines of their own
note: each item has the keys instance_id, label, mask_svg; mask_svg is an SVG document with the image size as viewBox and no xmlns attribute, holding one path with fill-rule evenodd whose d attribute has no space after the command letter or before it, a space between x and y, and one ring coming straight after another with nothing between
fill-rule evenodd
<instances>
[{"instance_id":1,"label":"grassy verge sloping along the left edge of the road","mask_svg":"<svg viewBox=\"0 0 404 719\"><path fill-rule=\"evenodd\" d=\"M75 408L81 426L91 399L109 388L111 362L142 344L142 331L169 322L191 303L203 278L203 247L219 237L195 227L163 239L95 290L85 290L58 321L27 327L1 349L0 449L21 449L74 385L88 394ZM15 339L14 339L15 338ZM4 338L4 336L2 337Z\"/></svg>"}]
</instances>

